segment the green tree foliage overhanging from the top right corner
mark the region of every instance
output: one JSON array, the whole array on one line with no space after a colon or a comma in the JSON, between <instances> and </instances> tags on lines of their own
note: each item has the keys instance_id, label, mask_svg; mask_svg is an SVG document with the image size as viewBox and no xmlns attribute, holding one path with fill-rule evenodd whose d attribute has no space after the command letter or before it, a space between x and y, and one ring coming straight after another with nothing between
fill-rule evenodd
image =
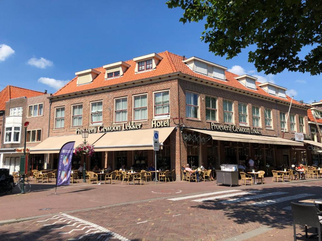
<instances>
[{"instance_id":1,"label":"green tree foliage overhanging from the top right corner","mask_svg":"<svg viewBox=\"0 0 322 241\"><path fill-rule=\"evenodd\" d=\"M277 74L284 69L322 71L322 0L169 0L184 9L180 22L205 19L201 40L209 51L227 59L256 44L248 61L257 71ZM304 57L304 46L310 51ZM302 55L303 53L301 53Z\"/></svg>"}]
</instances>

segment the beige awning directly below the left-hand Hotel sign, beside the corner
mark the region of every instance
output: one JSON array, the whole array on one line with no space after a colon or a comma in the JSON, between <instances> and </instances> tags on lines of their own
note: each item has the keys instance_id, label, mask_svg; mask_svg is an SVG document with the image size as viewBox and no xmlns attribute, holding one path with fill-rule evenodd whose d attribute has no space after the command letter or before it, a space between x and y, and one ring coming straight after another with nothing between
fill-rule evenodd
<instances>
[{"instance_id":1,"label":"beige awning directly below the left-hand Hotel sign, beside the corner","mask_svg":"<svg viewBox=\"0 0 322 241\"><path fill-rule=\"evenodd\" d=\"M163 143L175 127L107 132L94 143L96 151L153 150L153 131Z\"/></svg>"}]
</instances>

